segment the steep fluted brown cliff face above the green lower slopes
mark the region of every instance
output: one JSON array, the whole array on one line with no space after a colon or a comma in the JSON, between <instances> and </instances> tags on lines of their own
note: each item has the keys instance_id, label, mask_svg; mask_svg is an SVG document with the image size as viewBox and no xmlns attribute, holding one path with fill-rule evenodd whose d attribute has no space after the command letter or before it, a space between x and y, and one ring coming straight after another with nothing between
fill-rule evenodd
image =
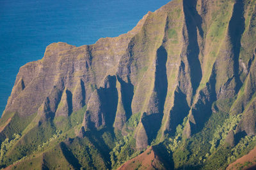
<instances>
[{"instance_id":1,"label":"steep fluted brown cliff face above the green lower slopes","mask_svg":"<svg viewBox=\"0 0 256 170\"><path fill-rule=\"evenodd\" d=\"M42 60L20 67L1 118L1 140L22 134L13 146L22 148L28 136L36 133L46 142L42 131L59 129L95 145L100 139L90 131L108 129L109 140L131 136L135 152L167 136L186 140L202 134L219 113L240 116L228 129L236 130L232 146L255 136L255 4L174 0L116 38L79 47L52 43ZM113 147L102 153L105 167ZM27 150L25 155L35 149Z\"/></svg>"}]
</instances>

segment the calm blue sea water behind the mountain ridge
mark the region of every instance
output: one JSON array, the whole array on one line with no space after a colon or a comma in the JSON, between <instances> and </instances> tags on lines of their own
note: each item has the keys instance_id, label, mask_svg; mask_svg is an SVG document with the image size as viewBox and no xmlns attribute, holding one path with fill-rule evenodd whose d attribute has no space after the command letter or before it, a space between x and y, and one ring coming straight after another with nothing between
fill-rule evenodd
<instances>
[{"instance_id":1,"label":"calm blue sea water behind the mountain ridge","mask_svg":"<svg viewBox=\"0 0 256 170\"><path fill-rule=\"evenodd\" d=\"M19 67L47 45L81 46L124 34L170 0L0 0L0 115Z\"/></svg>"}]
</instances>

